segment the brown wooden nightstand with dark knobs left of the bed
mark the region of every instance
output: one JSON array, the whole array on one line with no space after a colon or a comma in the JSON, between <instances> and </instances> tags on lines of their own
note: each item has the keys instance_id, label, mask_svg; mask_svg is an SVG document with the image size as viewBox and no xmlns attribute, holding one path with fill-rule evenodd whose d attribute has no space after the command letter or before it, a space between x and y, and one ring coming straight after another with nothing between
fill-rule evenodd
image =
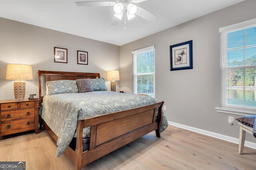
<instances>
[{"instance_id":1,"label":"brown wooden nightstand with dark knobs left of the bed","mask_svg":"<svg viewBox=\"0 0 256 170\"><path fill-rule=\"evenodd\" d=\"M0 100L0 138L4 135L30 131L38 133L39 100Z\"/></svg>"}]
</instances>

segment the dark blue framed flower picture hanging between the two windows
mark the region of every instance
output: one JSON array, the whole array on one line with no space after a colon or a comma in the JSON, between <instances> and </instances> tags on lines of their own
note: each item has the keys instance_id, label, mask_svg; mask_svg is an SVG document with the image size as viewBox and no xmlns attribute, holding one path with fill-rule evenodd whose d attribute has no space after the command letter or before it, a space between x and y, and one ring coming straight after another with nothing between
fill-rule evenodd
<instances>
[{"instance_id":1,"label":"dark blue framed flower picture hanging between the two windows","mask_svg":"<svg viewBox=\"0 0 256 170\"><path fill-rule=\"evenodd\" d=\"M171 71L193 69L192 40L170 46Z\"/></svg>"}]
</instances>

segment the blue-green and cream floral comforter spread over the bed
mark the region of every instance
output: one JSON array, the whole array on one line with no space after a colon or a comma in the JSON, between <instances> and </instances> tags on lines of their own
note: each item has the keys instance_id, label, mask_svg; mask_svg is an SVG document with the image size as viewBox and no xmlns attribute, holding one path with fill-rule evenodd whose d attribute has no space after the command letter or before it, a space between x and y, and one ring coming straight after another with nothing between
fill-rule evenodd
<instances>
[{"instance_id":1,"label":"blue-green and cream floral comforter spread over the bed","mask_svg":"<svg viewBox=\"0 0 256 170\"><path fill-rule=\"evenodd\" d=\"M156 100L150 96L110 91L54 94L44 96L42 119L58 136L56 157L59 157L72 138L76 137L78 120L154 103ZM163 113L160 131L164 131L167 126L168 122ZM89 135L90 127L84 128L83 137Z\"/></svg>"}]
</instances>

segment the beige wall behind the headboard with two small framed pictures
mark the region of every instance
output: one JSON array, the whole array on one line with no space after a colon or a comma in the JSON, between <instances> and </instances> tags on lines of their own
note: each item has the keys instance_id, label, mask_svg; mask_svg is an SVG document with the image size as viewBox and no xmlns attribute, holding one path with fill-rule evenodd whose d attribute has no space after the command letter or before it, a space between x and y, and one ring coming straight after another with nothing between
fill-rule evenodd
<instances>
[{"instance_id":1,"label":"beige wall behind the headboard with two small framed pictures","mask_svg":"<svg viewBox=\"0 0 256 170\"><path fill-rule=\"evenodd\" d=\"M68 63L54 63L54 47L68 49ZM88 51L88 65L77 64L77 50ZM119 70L120 47L76 35L0 18L0 100L14 99L13 80L6 80L9 63L32 65L34 80L26 81L26 98L38 96L37 70L99 72ZM110 81L106 81L110 90ZM117 81L119 91L119 81Z\"/></svg>"}]
</instances>

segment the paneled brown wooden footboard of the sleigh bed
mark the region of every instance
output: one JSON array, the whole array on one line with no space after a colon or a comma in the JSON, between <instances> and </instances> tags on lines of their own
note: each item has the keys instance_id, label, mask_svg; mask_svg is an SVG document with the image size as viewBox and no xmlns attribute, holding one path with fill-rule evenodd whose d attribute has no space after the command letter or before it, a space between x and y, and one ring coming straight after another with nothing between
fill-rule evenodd
<instances>
[{"instance_id":1,"label":"paneled brown wooden footboard of the sleigh bed","mask_svg":"<svg viewBox=\"0 0 256 170\"><path fill-rule=\"evenodd\" d=\"M76 170L154 130L156 136L160 137L163 104L164 102L159 102L79 120L75 151ZM90 148L83 152L82 131L85 127L91 127Z\"/></svg>"}]
</instances>

